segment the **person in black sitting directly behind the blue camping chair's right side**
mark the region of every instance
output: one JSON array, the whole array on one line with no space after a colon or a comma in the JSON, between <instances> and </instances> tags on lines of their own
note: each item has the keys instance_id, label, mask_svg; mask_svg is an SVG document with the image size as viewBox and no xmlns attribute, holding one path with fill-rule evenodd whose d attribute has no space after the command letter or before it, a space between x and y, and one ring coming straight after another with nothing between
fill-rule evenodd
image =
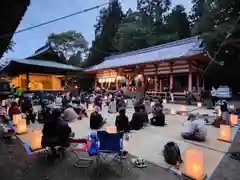
<instances>
[{"instance_id":1,"label":"person in black sitting directly behind the blue camping chair's right side","mask_svg":"<svg viewBox=\"0 0 240 180\"><path fill-rule=\"evenodd\" d=\"M115 126L117 127L117 131L124 131L124 133L128 133L129 129L129 121L128 117L126 116L126 109L120 108L119 115L116 117Z\"/></svg>"}]
</instances>

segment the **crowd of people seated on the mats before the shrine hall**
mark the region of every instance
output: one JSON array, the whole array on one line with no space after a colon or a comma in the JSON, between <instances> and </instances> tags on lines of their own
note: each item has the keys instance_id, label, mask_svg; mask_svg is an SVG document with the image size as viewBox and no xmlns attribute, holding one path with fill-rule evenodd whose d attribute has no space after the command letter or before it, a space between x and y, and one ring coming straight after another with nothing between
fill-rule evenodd
<instances>
[{"instance_id":1,"label":"crowd of people seated on the mats before the shrine hall","mask_svg":"<svg viewBox=\"0 0 240 180\"><path fill-rule=\"evenodd\" d=\"M55 104L61 104L61 108L49 108L45 103L41 103L41 112L38 118L42 119L43 123L43 138L42 146L50 147L53 156L58 156L56 146L62 149L69 146L69 137L74 134L68 125L82 116L87 115L87 106L91 102L94 104L94 110L89 117L89 127L92 130L99 130L106 124L106 119L102 116L103 108L102 96L93 94L92 96L81 95L80 98L73 96L56 96ZM161 99L153 102L149 97L132 99L134 113L129 121L126 115L126 102L122 92L108 95L108 113L118 113L115 119L117 131L129 133L131 130L140 130L147 125L160 126L166 125L165 115L163 113L163 104ZM75 108L80 111L76 112ZM0 118L12 119L13 115L26 113L27 123L35 119L33 106L28 97L21 97L19 102L13 101L7 110L0 106ZM227 103L221 104L221 124L229 124L229 111ZM152 117L149 119L149 114ZM203 142L207 137L206 121L198 116L189 116L189 128L181 133L181 136L186 140Z\"/></svg>"}]
</instances>

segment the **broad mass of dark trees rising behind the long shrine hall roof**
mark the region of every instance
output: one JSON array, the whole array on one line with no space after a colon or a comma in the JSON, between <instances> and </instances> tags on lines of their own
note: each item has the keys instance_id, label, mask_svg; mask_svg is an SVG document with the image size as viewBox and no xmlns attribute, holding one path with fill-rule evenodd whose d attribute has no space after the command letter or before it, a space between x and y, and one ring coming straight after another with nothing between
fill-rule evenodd
<instances>
[{"instance_id":1,"label":"broad mass of dark trees rising behind the long shrine hall roof","mask_svg":"<svg viewBox=\"0 0 240 180\"><path fill-rule=\"evenodd\" d=\"M159 45L190 35L183 6L170 10L171 0L138 0L137 10L122 13L118 2L100 11L95 40L83 67L96 65L106 56Z\"/></svg>"}]
</instances>

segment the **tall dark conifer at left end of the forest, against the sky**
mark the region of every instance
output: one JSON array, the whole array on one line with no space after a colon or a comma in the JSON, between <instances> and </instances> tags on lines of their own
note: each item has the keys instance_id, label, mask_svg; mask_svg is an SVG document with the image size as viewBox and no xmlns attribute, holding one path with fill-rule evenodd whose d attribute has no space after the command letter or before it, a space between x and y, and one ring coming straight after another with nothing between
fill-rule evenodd
<instances>
[{"instance_id":1,"label":"tall dark conifer at left end of the forest, against the sky","mask_svg":"<svg viewBox=\"0 0 240 180\"><path fill-rule=\"evenodd\" d=\"M92 42L89 56L84 62L84 67L93 66L104 61L106 56L116 53L113 38L122 22L123 12L118 1L113 1L107 9L100 11L97 25L95 26L95 40Z\"/></svg>"}]
</instances>

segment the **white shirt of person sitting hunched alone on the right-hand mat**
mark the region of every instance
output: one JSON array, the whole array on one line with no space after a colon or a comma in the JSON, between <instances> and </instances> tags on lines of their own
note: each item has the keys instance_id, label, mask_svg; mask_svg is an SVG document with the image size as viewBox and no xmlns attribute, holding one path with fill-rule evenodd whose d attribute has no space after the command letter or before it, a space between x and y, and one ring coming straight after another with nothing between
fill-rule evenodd
<instances>
[{"instance_id":1,"label":"white shirt of person sitting hunched alone on the right-hand mat","mask_svg":"<svg viewBox=\"0 0 240 180\"><path fill-rule=\"evenodd\" d=\"M205 138L207 136L207 128L204 119L197 119L189 124L188 133L194 134L196 137Z\"/></svg>"}]
</instances>

